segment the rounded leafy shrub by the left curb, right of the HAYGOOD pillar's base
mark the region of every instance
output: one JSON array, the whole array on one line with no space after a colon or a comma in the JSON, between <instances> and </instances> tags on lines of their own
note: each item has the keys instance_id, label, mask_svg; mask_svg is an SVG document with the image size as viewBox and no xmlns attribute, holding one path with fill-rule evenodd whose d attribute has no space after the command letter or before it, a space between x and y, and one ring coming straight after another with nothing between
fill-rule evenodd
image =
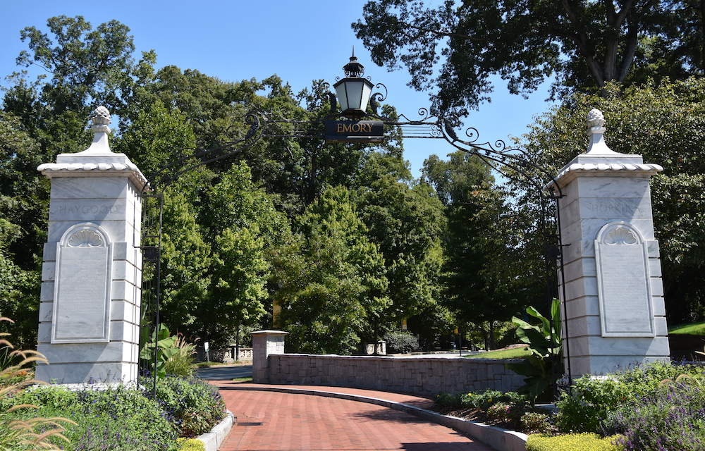
<instances>
[{"instance_id":1,"label":"rounded leafy shrub by the left curb, right of the HAYGOOD pillar's base","mask_svg":"<svg viewBox=\"0 0 705 451\"><path fill-rule=\"evenodd\" d=\"M197 378L159 379L157 402L176 425L180 437L196 437L210 431L226 412L218 389Z\"/></svg>"}]
</instances>

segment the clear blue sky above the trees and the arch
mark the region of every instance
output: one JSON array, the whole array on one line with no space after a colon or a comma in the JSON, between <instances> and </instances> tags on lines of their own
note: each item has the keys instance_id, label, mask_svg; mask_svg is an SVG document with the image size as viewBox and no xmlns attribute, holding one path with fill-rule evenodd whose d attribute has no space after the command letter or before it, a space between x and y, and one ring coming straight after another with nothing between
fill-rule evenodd
<instances>
[{"instance_id":1,"label":"clear blue sky above the trees and the arch","mask_svg":"<svg viewBox=\"0 0 705 451\"><path fill-rule=\"evenodd\" d=\"M405 69L388 73L375 66L367 49L355 38L350 23L362 17L363 0L259 0L259 1L66 1L35 0L6 2L0 16L0 77L16 66L15 58L26 43L20 30L35 26L47 32L52 16L84 16L93 27L116 19L130 27L135 37L135 59L140 51L154 49L157 66L197 69L221 80L262 80L277 74L289 82L294 92L311 85L314 79L333 83L343 75L355 46L358 61L372 82L388 88L386 103L399 113L417 118L421 107L429 106L428 94L407 87ZM430 2L433 4L433 1ZM34 73L39 73L37 70ZM491 104L483 104L465 120L479 130L481 142L507 140L527 131L532 118L549 108L544 99L548 83L528 100L508 94L506 83L497 80ZM420 175L430 154L442 158L453 152L443 140L406 140L405 158L412 173Z\"/></svg>"}]
</instances>

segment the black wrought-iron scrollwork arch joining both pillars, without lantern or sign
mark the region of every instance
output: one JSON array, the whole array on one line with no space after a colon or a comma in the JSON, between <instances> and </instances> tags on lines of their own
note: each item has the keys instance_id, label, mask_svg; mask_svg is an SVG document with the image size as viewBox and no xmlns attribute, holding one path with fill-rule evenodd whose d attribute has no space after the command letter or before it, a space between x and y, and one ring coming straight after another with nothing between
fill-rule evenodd
<instances>
[{"instance_id":1,"label":"black wrought-iron scrollwork arch joining both pillars, without lantern or sign","mask_svg":"<svg viewBox=\"0 0 705 451\"><path fill-rule=\"evenodd\" d=\"M329 85L325 83L324 87L329 88ZM498 173L506 178L519 181L531 190L539 201L542 213L539 228L544 238L546 299L548 306L550 306L551 299L558 297L557 270L558 275L563 278L563 243L560 235L560 216L557 214L558 201L563 197L563 192L561 192L558 183L555 183L556 179L553 174L548 173L546 169L536 163L524 149L508 147L503 140L497 140L494 144L479 142L479 132L475 128L465 128L465 137L461 139L456 132L460 128L461 120L455 114L432 115L428 109L422 108L419 109L419 119L416 120L410 120L403 114L395 117L381 116L380 104L386 99L387 89L381 83L376 84L376 89L384 89L384 93L378 91L372 94L370 98L370 110L372 111L368 111L367 116L364 116L363 119L382 121L386 130L397 130L398 135L386 135L384 139L445 140L455 149L477 156ZM326 98L322 99L323 103L329 102L330 110L337 111L335 94L326 92L324 96ZM287 116L286 112L282 111L252 108L245 116L245 123L249 125L249 128L244 137L222 142L211 149L185 149L173 161L166 163L159 171L152 174L142 187L142 309L143 312L146 312L145 315L153 321L152 327L158 330L160 323L161 226L166 187L188 171L241 154L268 138L326 140L325 122L341 118L341 113L333 113L328 116L306 113L304 118L295 119ZM537 174L541 175L541 178L537 179ZM553 203L553 207L551 207L551 203ZM548 223L553 219L556 220L555 233L548 233ZM563 280L560 285L565 290ZM562 294L565 299L565 293ZM567 317L565 316L565 303L563 308L563 315ZM149 328L149 323L143 320L141 327ZM143 337L146 336L145 333L140 334L140 350L144 345ZM568 362L568 376L572 379L570 350L567 341L565 341L565 352L566 362ZM156 367L156 348L154 362ZM553 365L553 368L556 368L556 364ZM155 375L154 390L156 390L156 379Z\"/></svg>"}]
</instances>

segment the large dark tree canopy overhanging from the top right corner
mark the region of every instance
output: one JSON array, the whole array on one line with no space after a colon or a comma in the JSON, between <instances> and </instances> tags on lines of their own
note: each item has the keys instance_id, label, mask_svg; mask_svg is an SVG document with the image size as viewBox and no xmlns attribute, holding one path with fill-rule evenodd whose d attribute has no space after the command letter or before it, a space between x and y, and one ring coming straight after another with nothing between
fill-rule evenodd
<instances>
[{"instance_id":1,"label":"large dark tree canopy overhanging from the top right corner","mask_svg":"<svg viewBox=\"0 0 705 451\"><path fill-rule=\"evenodd\" d=\"M627 82L633 66L651 76L702 74L701 11L689 1L462 1L431 8L420 0L372 0L353 23L372 61L407 67L417 90L431 89L441 111L476 108L489 99L489 75L513 94L533 92L554 73L554 94ZM689 11L686 13L686 11ZM686 16L684 20L681 18ZM689 25L697 33L683 33ZM693 40L697 42L692 42ZM655 50L679 51L663 66ZM641 52L642 58L635 58ZM701 55L701 54L700 54ZM434 77L435 67L442 64ZM676 70L676 68L678 70ZM438 90L436 91L436 87Z\"/></svg>"}]
</instances>

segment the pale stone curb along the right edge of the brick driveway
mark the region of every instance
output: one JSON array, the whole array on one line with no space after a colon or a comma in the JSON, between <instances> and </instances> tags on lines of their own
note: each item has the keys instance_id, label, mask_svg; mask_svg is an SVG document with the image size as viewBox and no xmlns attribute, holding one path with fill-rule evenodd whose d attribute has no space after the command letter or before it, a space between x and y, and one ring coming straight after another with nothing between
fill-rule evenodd
<instances>
[{"instance_id":1,"label":"pale stone curb along the right edge of the brick driveway","mask_svg":"<svg viewBox=\"0 0 705 451\"><path fill-rule=\"evenodd\" d=\"M225 387L219 387L225 388ZM401 412L406 412L407 414L412 414L418 416L421 419L432 421L441 426L446 426L452 428L455 431L465 433L470 435L470 437L479 440L485 445L493 447L497 451L526 451L527 447L527 435L525 433L520 433L516 431L509 431L508 429L498 428L496 426L488 426L484 423L476 423L474 421L464 420L462 418L457 418L455 416L441 415L436 412L431 412L430 410L421 409L419 407L410 406L409 404L403 404L401 402L393 402L388 400L381 400L375 397L361 396L361 395L350 395L348 393L335 393L326 392L324 390L310 390L304 388L285 388L285 387L243 387L234 388L228 386L231 390L259 390L259 391L273 391L282 393L297 393L301 395L316 395L325 397L336 397L343 400L357 401L357 402L367 402L369 404L376 404L383 407L389 407L390 409L396 409ZM207 449L207 451L209 451Z\"/></svg>"}]
</instances>

